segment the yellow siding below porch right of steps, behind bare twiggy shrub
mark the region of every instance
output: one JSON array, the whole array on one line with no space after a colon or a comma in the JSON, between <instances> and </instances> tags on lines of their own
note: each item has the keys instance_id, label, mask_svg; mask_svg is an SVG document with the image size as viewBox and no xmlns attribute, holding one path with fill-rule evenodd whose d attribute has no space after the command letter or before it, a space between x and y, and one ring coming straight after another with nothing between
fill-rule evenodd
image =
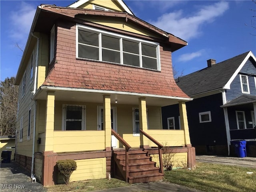
<instances>
[{"instance_id":1,"label":"yellow siding below porch right of steps, behind bare twiggy shrub","mask_svg":"<svg viewBox=\"0 0 256 192\"><path fill-rule=\"evenodd\" d=\"M162 158L164 159L164 156L171 157L171 161L173 163L173 168L184 168L187 166L187 160L188 160L188 153L172 153L172 154L162 154ZM156 162L156 166L159 167L159 155L154 154L150 155L152 157L152 161ZM167 158L168 159L168 158Z\"/></svg>"}]
</instances>

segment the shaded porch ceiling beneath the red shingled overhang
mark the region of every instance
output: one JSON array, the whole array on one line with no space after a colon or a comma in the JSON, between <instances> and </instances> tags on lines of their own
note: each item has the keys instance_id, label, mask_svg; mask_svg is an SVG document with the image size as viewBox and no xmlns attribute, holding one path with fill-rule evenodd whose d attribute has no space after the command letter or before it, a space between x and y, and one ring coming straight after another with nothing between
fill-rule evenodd
<instances>
[{"instance_id":1,"label":"shaded porch ceiling beneath the red shingled overhang","mask_svg":"<svg viewBox=\"0 0 256 192\"><path fill-rule=\"evenodd\" d=\"M40 89L34 97L33 100L46 100L47 92L49 90ZM156 96L144 96L144 95L132 95L124 92L121 93L105 93L105 92L81 92L81 91L68 91L68 90L54 90L55 100L61 101L73 101L73 102L94 102L94 103L102 103L103 96L108 94L110 95L111 103L115 103L117 100L117 104L130 104L130 105L138 105L138 99L140 97L146 98L146 103L149 106L168 106L177 104L179 101L184 101L184 98L158 98ZM187 98L186 98L187 99Z\"/></svg>"}]
</instances>

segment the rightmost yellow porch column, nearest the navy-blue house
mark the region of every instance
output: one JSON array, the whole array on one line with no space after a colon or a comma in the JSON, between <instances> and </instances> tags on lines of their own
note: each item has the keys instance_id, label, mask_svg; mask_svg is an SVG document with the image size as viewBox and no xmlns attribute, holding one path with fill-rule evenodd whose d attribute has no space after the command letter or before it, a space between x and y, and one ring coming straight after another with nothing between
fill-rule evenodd
<instances>
[{"instance_id":1,"label":"rightmost yellow porch column, nearest the navy-blue house","mask_svg":"<svg viewBox=\"0 0 256 192\"><path fill-rule=\"evenodd\" d=\"M184 101L179 102L179 110L180 110L180 126L181 126L181 129L184 130L185 146L191 147L189 130L188 130L187 110L186 110L186 104Z\"/></svg>"}]
</instances>

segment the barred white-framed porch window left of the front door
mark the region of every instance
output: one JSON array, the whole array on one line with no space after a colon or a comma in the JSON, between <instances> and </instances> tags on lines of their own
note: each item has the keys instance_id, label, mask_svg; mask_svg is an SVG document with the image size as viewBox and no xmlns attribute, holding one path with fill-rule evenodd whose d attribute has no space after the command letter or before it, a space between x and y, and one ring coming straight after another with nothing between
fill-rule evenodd
<instances>
[{"instance_id":1,"label":"barred white-framed porch window left of the front door","mask_svg":"<svg viewBox=\"0 0 256 192\"><path fill-rule=\"evenodd\" d=\"M62 130L85 130L85 106L63 105Z\"/></svg>"}]
</instances>

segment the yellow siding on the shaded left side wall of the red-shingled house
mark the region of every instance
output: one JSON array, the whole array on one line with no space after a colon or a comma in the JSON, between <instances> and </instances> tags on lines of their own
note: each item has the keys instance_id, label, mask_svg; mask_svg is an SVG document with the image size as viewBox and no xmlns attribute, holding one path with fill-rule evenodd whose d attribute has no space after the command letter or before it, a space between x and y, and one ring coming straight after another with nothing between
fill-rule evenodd
<instances>
[{"instance_id":1,"label":"yellow siding on the shaded left side wall of the red-shingled house","mask_svg":"<svg viewBox=\"0 0 256 192\"><path fill-rule=\"evenodd\" d=\"M28 60L25 62L26 72L25 72L25 94L22 97L22 80L19 84L19 112L17 120L17 130L18 130L18 142L17 142L17 154L22 154L25 156L32 157L32 140L33 140L33 129L34 129L34 101L31 100L33 96L32 91L34 90L34 73L36 68L36 44L31 44L31 52L28 53ZM34 52L34 62L33 62L33 78L30 80L30 69L31 69L31 56ZM28 110L31 108L31 127L30 127L30 140L28 140ZM23 137L22 142L20 142L20 119L23 116Z\"/></svg>"}]
</instances>

